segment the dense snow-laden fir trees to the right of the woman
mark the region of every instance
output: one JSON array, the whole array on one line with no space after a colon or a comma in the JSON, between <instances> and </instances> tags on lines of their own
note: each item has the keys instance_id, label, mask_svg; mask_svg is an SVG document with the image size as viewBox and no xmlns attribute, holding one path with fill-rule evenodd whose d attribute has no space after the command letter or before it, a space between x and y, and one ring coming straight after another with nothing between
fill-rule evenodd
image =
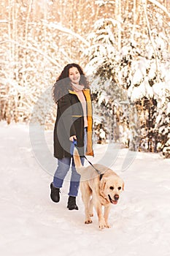
<instances>
[{"instance_id":1,"label":"dense snow-laden fir trees to the right of the woman","mask_svg":"<svg viewBox=\"0 0 170 256\"><path fill-rule=\"evenodd\" d=\"M119 127L120 141L127 141L127 136L131 149L163 151L168 157L169 24L163 16L166 9L162 6L160 9L157 5L152 5L153 9L149 7L150 3L145 2L138 6L140 12L135 24L125 22L123 25L123 20L112 18L98 20L91 35L92 46L86 50L90 56L87 70L95 73L98 97L103 89L107 94L105 97L109 97L105 104L107 108L111 102L119 102L117 117L113 115L111 120L116 120ZM128 22L131 20L131 10L128 12ZM121 15L124 21L125 15L127 10ZM120 49L117 47L118 35L115 32L118 22L122 29ZM139 30L141 26L142 31ZM160 26L166 30L160 29ZM104 88L105 81L109 81L109 86ZM123 121L120 121L120 116Z\"/></svg>"}]
</instances>

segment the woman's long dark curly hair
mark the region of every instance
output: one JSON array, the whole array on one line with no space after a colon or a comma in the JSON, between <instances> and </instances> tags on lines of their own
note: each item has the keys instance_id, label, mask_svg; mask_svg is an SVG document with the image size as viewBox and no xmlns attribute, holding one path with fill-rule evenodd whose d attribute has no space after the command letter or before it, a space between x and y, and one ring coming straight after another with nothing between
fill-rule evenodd
<instances>
[{"instance_id":1,"label":"woman's long dark curly hair","mask_svg":"<svg viewBox=\"0 0 170 256\"><path fill-rule=\"evenodd\" d=\"M72 90L71 80L69 78L69 69L71 69L72 67L77 67L78 71L80 72L80 85L83 85L85 89L89 88L88 80L85 77L85 74L82 71L80 65L75 63L67 64L63 68L61 75L59 75L58 79L56 80L53 86L53 100L55 103L57 103L58 100L61 99L61 97L68 94L69 89Z\"/></svg>"}]
</instances>

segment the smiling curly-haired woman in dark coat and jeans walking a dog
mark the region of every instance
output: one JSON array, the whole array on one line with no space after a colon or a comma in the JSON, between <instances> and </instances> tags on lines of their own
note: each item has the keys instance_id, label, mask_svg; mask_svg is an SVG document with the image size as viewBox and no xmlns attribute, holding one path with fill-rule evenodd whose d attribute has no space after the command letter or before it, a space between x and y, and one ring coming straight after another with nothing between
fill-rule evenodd
<instances>
[{"instance_id":1,"label":"smiling curly-haired woman in dark coat and jeans walking a dog","mask_svg":"<svg viewBox=\"0 0 170 256\"><path fill-rule=\"evenodd\" d=\"M82 165L84 155L93 156L92 148L92 106L88 80L78 64L68 64L53 87L53 98L58 105L54 128L54 157L58 167L50 184L50 197L58 203L60 188L72 165L72 176L69 186L69 210L78 210L76 197L80 185L80 174L77 173L70 148L77 140L77 148Z\"/></svg>"}]
</instances>

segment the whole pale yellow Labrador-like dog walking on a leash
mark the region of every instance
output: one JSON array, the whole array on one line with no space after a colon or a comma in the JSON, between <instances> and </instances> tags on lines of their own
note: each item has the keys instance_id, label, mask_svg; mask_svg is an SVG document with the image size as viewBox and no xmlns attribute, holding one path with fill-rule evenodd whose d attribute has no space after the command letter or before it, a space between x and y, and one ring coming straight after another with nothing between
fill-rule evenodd
<instances>
[{"instance_id":1,"label":"whole pale yellow Labrador-like dog walking on a leash","mask_svg":"<svg viewBox=\"0 0 170 256\"><path fill-rule=\"evenodd\" d=\"M92 223L94 206L98 216L99 229L109 228L110 207L112 204L117 204L120 193L124 190L123 179L104 165L96 164L83 167L77 148L74 148L73 157L77 173L80 173L81 176L80 190L85 206L85 224ZM102 206L104 206L104 214Z\"/></svg>"}]
</instances>

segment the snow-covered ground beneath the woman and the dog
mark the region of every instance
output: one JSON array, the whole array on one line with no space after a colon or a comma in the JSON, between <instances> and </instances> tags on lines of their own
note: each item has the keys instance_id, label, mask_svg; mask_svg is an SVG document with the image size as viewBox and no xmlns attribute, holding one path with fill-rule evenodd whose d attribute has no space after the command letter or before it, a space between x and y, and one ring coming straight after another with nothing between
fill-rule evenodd
<instances>
[{"instance_id":1,"label":"snow-covered ground beneath the woman and the dog","mask_svg":"<svg viewBox=\"0 0 170 256\"><path fill-rule=\"evenodd\" d=\"M95 157L89 160L108 162L125 181L120 202L112 206L109 215L112 227L98 230L96 215L92 224L84 224L80 194L80 210L66 208L67 178L61 202L50 200L56 163L47 170L45 162L53 159L53 132L45 132L47 151L39 136L29 133L28 125L1 122L0 131L1 255L170 255L169 159L137 153L130 163L128 149L96 146Z\"/></svg>"}]
</instances>

